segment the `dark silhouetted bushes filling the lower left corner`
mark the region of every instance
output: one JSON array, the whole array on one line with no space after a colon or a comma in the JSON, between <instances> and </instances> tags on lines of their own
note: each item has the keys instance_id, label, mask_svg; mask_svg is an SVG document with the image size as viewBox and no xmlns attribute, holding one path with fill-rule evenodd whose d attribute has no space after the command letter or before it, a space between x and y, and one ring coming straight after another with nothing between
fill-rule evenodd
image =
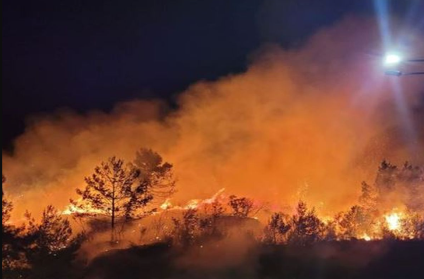
<instances>
[{"instance_id":1,"label":"dark silhouetted bushes filling the lower left corner","mask_svg":"<svg viewBox=\"0 0 424 279\"><path fill-rule=\"evenodd\" d=\"M69 221L53 206L43 211L39 222L26 213L26 223L20 226L9 223L12 209L3 193L3 278L74 278L78 271L76 255L84 236L74 236Z\"/></svg>"}]
</instances>

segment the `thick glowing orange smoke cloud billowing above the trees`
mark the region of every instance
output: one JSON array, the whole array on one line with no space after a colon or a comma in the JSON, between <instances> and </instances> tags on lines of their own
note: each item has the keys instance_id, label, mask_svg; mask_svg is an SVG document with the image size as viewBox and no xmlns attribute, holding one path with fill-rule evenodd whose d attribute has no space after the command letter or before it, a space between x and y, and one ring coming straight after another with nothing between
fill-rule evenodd
<instances>
[{"instance_id":1,"label":"thick glowing orange smoke cloud billowing above the trees","mask_svg":"<svg viewBox=\"0 0 424 279\"><path fill-rule=\"evenodd\" d=\"M417 54L418 31L400 40ZM64 208L96 164L141 147L175 165L174 204L226 188L272 209L299 198L325 214L345 209L382 159L424 161L423 80L384 76L370 55L383 50L374 21L347 18L299 49L264 47L244 73L192 85L177 111L135 100L32 118L2 155L15 213Z\"/></svg>"}]
</instances>

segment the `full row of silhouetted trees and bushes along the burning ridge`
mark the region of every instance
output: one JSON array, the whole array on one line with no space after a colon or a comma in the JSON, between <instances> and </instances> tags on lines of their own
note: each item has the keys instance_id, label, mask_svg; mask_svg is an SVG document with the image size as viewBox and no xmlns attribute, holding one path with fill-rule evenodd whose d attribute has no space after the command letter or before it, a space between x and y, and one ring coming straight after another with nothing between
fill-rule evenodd
<instances>
[{"instance_id":1,"label":"full row of silhouetted trees and bushes along the burning ridge","mask_svg":"<svg viewBox=\"0 0 424 279\"><path fill-rule=\"evenodd\" d=\"M3 176L3 184L6 179ZM135 159L125 162L110 157L85 178L77 189L67 214L80 224L108 220L111 243L119 241L126 225L149 216L160 216L158 206L176 190L173 165L150 149L141 149ZM181 209L170 222L151 222L155 240L170 246L187 247L221 240L231 231L248 235L253 241L271 245L307 246L320 241L351 239L424 240L424 171L405 163L397 167L387 161L380 165L376 180L363 182L357 205L334 218L322 220L314 208L299 201L292 214L271 213L266 226L254 217L264 209L246 197L229 196L202 206ZM401 193L401 194L400 194ZM399 229L384 220L386 206L394 199L405 205ZM75 278L84 262L77 252L95 232L83 230L75 235L63 212L48 206L40 221L27 213L24 225L10 223L13 204L2 195L2 275L4 278ZM166 210L165 210L166 211ZM146 230L140 233L146 233ZM257 233L257 230L260 233ZM256 230L256 231L255 231Z\"/></svg>"}]
</instances>

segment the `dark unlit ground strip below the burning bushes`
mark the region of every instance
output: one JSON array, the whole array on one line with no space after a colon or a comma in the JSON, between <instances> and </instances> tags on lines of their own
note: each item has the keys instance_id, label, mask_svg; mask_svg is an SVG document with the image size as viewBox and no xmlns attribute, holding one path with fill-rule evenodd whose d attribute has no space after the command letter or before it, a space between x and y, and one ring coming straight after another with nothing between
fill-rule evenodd
<instances>
[{"instance_id":1,"label":"dark unlit ground strip below the burning bushes","mask_svg":"<svg viewBox=\"0 0 424 279\"><path fill-rule=\"evenodd\" d=\"M424 242L332 242L311 247L210 244L117 250L84 279L422 279Z\"/></svg>"}]
</instances>

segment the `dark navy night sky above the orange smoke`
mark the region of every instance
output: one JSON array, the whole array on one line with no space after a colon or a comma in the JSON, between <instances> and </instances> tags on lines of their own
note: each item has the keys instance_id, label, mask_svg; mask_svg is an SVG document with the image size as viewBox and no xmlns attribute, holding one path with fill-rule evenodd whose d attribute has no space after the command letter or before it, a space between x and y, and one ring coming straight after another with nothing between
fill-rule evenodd
<instances>
[{"instance_id":1,"label":"dark navy night sky above the orange smoke","mask_svg":"<svg viewBox=\"0 0 424 279\"><path fill-rule=\"evenodd\" d=\"M2 8L3 148L27 116L172 101L197 80L243 71L265 42L294 47L348 13L374 14L372 0L7 0Z\"/></svg>"}]
</instances>

